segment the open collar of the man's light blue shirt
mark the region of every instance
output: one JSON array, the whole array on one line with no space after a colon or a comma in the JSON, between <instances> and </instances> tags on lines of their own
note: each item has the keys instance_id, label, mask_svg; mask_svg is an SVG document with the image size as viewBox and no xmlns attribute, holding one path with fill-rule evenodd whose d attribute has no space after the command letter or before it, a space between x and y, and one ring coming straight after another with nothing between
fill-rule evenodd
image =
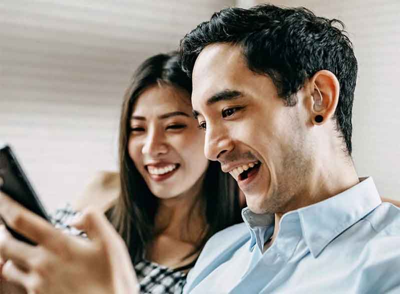
<instances>
[{"instance_id":1,"label":"open collar of the man's light blue shirt","mask_svg":"<svg viewBox=\"0 0 400 294\"><path fill-rule=\"evenodd\" d=\"M288 212L283 215L281 225L283 218L298 215L304 241L312 256L317 257L334 238L381 203L373 179L368 177L360 180L360 183L342 193ZM257 245L262 253L264 243L273 233L274 215L255 214L248 207L242 210L241 215L250 231L249 250L252 251Z\"/></svg>"}]
</instances>

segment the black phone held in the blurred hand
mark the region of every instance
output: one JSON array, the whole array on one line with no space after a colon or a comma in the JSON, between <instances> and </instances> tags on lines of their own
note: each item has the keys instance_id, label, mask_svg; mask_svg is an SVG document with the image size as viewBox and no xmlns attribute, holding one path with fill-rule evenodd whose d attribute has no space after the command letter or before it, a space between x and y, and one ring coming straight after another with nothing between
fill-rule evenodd
<instances>
[{"instance_id":1,"label":"black phone held in the blurred hand","mask_svg":"<svg viewBox=\"0 0 400 294\"><path fill-rule=\"evenodd\" d=\"M26 209L51 223L43 205L8 145L0 146L0 190ZM16 239L35 245L32 241L8 227L5 222L4 225Z\"/></svg>"}]
</instances>

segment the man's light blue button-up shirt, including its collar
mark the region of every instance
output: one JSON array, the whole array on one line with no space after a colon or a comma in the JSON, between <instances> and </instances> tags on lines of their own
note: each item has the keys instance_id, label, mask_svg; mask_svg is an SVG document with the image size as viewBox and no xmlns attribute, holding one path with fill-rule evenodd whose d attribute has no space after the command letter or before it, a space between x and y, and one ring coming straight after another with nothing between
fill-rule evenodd
<instances>
[{"instance_id":1,"label":"man's light blue button-up shirt, including its collar","mask_svg":"<svg viewBox=\"0 0 400 294\"><path fill-rule=\"evenodd\" d=\"M265 252L273 215L242 216L207 242L184 293L400 293L400 209L372 178L284 214Z\"/></svg>"}]
</instances>

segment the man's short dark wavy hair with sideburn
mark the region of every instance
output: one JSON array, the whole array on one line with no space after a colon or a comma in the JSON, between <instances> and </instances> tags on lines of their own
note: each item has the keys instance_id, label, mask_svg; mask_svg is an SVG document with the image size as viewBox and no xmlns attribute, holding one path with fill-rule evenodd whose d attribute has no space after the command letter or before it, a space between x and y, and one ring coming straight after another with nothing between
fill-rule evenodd
<instances>
[{"instance_id":1,"label":"man's short dark wavy hair with sideburn","mask_svg":"<svg viewBox=\"0 0 400 294\"><path fill-rule=\"evenodd\" d=\"M189 76L201 50L212 43L239 45L248 68L268 75L287 106L296 104L296 92L314 73L331 71L340 85L333 119L346 146L343 150L351 155L357 60L340 20L315 16L304 7L222 9L180 41L181 66Z\"/></svg>"}]
</instances>

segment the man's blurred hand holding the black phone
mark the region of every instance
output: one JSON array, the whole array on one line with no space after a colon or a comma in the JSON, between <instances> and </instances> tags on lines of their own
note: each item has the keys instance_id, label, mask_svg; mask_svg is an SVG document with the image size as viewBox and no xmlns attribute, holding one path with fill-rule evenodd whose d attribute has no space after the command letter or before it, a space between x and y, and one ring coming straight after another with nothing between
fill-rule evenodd
<instances>
[{"instance_id":1,"label":"man's blurred hand holding the black phone","mask_svg":"<svg viewBox=\"0 0 400 294\"><path fill-rule=\"evenodd\" d=\"M2 276L28 294L138 293L129 254L105 217L93 211L81 219L89 240L67 236L0 192L6 224L35 242L31 246L0 232Z\"/></svg>"}]
</instances>

